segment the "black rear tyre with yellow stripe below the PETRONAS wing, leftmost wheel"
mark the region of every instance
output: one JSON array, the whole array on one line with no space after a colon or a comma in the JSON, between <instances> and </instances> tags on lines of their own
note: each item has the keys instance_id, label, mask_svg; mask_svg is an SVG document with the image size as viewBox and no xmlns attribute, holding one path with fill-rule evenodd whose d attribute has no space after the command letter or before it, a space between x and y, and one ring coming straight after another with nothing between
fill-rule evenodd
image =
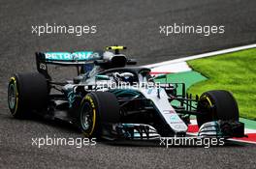
<instances>
[{"instance_id":1,"label":"black rear tyre with yellow stripe below the PETRONAS wing, leftmost wheel","mask_svg":"<svg viewBox=\"0 0 256 169\"><path fill-rule=\"evenodd\" d=\"M8 105L15 118L47 107L48 82L41 73L16 73L10 78Z\"/></svg>"}]
</instances>

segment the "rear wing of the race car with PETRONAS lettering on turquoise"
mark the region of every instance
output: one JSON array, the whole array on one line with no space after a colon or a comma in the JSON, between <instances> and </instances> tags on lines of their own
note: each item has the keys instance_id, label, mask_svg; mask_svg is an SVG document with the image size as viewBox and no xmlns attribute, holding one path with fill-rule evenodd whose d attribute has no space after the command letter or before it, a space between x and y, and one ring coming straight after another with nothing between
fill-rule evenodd
<instances>
[{"instance_id":1,"label":"rear wing of the race car with PETRONAS lettering on turquoise","mask_svg":"<svg viewBox=\"0 0 256 169\"><path fill-rule=\"evenodd\" d=\"M92 64L95 60L102 59L99 52L77 51L70 52L36 52L37 70L50 79L48 74L48 64L60 66L75 66L80 73L80 66Z\"/></svg>"}]
</instances>

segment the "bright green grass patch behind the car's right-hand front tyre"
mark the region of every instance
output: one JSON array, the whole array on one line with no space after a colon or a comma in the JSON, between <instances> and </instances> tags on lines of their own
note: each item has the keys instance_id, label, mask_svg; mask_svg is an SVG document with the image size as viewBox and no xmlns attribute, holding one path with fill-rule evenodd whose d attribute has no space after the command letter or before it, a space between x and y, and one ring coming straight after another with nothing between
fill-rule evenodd
<instances>
[{"instance_id":1,"label":"bright green grass patch behind the car's right-hand front tyre","mask_svg":"<svg viewBox=\"0 0 256 169\"><path fill-rule=\"evenodd\" d=\"M256 48L197 59L188 65L208 77L192 85L188 93L231 91L238 100L240 117L256 120Z\"/></svg>"}]
</instances>

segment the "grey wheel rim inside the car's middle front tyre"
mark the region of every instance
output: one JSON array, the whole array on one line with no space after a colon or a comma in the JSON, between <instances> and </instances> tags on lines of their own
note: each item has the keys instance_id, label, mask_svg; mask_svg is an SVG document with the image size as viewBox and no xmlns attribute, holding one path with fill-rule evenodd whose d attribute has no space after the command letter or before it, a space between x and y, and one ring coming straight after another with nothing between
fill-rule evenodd
<instances>
[{"instance_id":1,"label":"grey wheel rim inside the car's middle front tyre","mask_svg":"<svg viewBox=\"0 0 256 169\"><path fill-rule=\"evenodd\" d=\"M81 111L81 127L83 130L90 130L93 125L93 109L88 102L85 102Z\"/></svg>"}]
</instances>

